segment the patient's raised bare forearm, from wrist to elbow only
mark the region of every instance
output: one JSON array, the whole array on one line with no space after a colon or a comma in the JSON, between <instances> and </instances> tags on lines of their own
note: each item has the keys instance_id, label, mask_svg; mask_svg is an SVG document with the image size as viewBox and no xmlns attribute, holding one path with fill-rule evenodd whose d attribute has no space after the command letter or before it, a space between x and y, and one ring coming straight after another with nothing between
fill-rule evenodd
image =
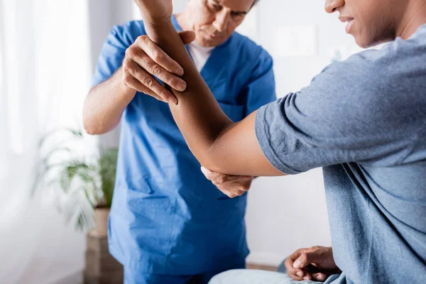
<instances>
[{"instance_id":1,"label":"patient's raised bare forearm, from wrist to elbow only","mask_svg":"<svg viewBox=\"0 0 426 284\"><path fill-rule=\"evenodd\" d=\"M180 36L175 31L172 23L150 24L146 23L148 36L163 48L171 58L179 62L185 70L182 79L187 84L185 92L175 92L179 104L170 105L176 123L182 131L185 141L195 157L202 165L212 170L220 168L209 151L222 131L234 124L217 104L209 87L202 79L195 65L182 44Z\"/></svg>"}]
</instances>

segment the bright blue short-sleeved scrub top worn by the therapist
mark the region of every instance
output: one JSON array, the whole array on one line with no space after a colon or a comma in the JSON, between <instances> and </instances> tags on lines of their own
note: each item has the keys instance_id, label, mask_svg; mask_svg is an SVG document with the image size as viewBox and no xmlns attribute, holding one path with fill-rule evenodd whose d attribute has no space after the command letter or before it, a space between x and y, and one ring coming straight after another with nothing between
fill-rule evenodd
<instances>
[{"instance_id":1,"label":"bright blue short-sleeved scrub top worn by the therapist","mask_svg":"<svg viewBox=\"0 0 426 284\"><path fill-rule=\"evenodd\" d=\"M181 31L174 16L173 24ZM142 21L114 26L94 85L114 74L139 35L146 35ZM214 48L201 75L233 121L275 100L271 56L238 33ZM168 104L137 93L121 119L111 254L143 273L222 271L249 254L245 210L246 195L230 199L204 177Z\"/></svg>"}]
</instances>

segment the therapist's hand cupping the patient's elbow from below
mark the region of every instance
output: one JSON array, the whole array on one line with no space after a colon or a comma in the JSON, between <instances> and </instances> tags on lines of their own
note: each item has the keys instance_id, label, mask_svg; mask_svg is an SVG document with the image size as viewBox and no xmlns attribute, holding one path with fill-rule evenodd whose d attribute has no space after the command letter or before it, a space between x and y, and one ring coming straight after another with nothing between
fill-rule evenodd
<instances>
[{"instance_id":1,"label":"therapist's hand cupping the patient's elbow from below","mask_svg":"<svg viewBox=\"0 0 426 284\"><path fill-rule=\"evenodd\" d=\"M201 171L207 180L212 181L220 191L231 198L244 195L245 192L249 191L253 181L253 177L249 175L224 175L214 173L204 167L201 167Z\"/></svg>"}]
</instances>

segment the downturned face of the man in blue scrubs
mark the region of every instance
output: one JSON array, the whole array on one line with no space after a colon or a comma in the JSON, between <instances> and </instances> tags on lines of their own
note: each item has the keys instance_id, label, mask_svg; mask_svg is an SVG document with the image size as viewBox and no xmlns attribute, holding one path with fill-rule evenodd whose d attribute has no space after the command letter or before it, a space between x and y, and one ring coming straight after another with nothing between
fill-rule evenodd
<instances>
[{"instance_id":1,"label":"downturned face of the man in blue scrubs","mask_svg":"<svg viewBox=\"0 0 426 284\"><path fill-rule=\"evenodd\" d=\"M227 40L254 0L190 0L187 6L190 25L195 31L195 41L205 47L221 45Z\"/></svg>"}]
</instances>

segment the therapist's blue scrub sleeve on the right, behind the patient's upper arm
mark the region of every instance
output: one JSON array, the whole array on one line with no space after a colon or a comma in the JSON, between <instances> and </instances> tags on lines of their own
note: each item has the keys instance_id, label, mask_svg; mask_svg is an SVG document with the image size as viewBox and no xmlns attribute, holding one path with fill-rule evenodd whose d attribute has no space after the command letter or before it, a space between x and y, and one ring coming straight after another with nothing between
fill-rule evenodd
<instances>
[{"instance_id":1,"label":"therapist's blue scrub sleeve on the right, behind the patient's upper arm","mask_svg":"<svg viewBox=\"0 0 426 284\"><path fill-rule=\"evenodd\" d=\"M265 50L261 49L256 66L251 72L246 92L246 116L260 107L275 101L275 78L273 75L273 60Z\"/></svg>"}]
</instances>

